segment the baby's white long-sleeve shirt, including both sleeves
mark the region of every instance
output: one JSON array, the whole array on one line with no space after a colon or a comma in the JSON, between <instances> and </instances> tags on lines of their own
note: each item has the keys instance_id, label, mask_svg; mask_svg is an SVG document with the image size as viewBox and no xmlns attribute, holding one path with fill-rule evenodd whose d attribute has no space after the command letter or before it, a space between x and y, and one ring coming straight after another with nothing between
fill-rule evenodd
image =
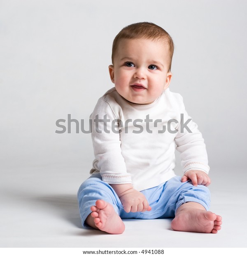
<instances>
[{"instance_id":1,"label":"baby's white long-sleeve shirt, including both sleeves","mask_svg":"<svg viewBox=\"0 0 247 256\"><path fill-rule=\"evenodd\" d=\"M112 88L90 119L95 154L90 173L100 173L106 183L132 183L138 191L164 183L175 176L175 148L184 172L209 171L203 137L189 121L181 95L169 88L147 105L128 102Z\"/></svg>"}]
</instances>

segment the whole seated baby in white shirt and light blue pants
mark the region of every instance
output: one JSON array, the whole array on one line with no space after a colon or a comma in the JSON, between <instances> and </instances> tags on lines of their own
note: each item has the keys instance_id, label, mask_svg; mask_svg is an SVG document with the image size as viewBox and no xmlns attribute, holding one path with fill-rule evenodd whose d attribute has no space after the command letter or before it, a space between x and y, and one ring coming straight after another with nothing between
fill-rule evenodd
<instances>
[{"instance_id":1,"label":"whole seated baby in white shirt and light blue pants","mask_svg":"<svg viewBox=\"0 0 247 256\"><path fill-rule=\"evenodd\" d=\"M108 90L91 114L95 160L79 188L84 228L110 234L123 218L174 218L173 230L217 233L221 216L208 211L210 185L201 133L170 92L174 45L161 27L123 28L112 46ZM175 148L184 175L175 175Z\"/></svg>"}]
</instances>

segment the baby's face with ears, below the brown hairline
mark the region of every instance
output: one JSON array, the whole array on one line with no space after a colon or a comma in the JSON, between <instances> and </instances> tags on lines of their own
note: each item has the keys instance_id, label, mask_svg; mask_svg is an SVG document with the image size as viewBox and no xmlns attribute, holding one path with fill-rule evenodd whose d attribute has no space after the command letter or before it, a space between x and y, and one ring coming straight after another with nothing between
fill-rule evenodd
<instances>
[{"instance_id":1,"label":"baby's face with ears, below the brown hairline","mask_svg":"<svg viewBox=\"0 0 247 256\"><path fill-rule=\"evenodd\" d=\"M112 83L126 100L150 104L168 88L168 46L148 39L122 39L109 66Z\"/></svg>"}]
</instances>

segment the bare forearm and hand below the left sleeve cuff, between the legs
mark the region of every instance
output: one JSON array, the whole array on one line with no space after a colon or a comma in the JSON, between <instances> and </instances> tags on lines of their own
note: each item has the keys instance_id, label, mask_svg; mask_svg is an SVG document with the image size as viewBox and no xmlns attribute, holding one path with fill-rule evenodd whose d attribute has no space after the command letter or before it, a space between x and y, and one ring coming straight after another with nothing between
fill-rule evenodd
<instances>
[{"instance_id":1,"label":"bare forearm and hand below the left sleeve cuff, between the legs","mask_svg":"<svg viewBox=\"0 0 247 256\"><path fill-rule=\"evenodd\" d=\"M135 190L132 184L111 184L114 191L117 193L124 211L127 213L137 211L151 211L144 194Z\"/></svg>"}]
</instances>

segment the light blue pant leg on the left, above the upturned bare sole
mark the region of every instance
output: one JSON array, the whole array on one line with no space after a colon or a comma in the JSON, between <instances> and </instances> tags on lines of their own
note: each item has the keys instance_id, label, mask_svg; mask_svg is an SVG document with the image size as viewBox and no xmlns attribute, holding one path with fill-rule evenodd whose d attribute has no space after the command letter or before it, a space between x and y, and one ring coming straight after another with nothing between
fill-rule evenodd
<instances>
[{"instance_id":1,"label":"light blue pant leg on the left, above the upturned bare sole","mask_svg":"<svg viewBox=\"0 0 247 256\"><path fill-rule=\"evenodd\" d=\"M92 212L90 207L95 205L98 199L103 199L112 204L114 210L119 215L121 208L123 208L116 192L109 184L102 181L99 173L92 175L82 183L77 193L77 199L83 228L90 228L85 225L85 220Z\"/></svg>"}]
</instances>

